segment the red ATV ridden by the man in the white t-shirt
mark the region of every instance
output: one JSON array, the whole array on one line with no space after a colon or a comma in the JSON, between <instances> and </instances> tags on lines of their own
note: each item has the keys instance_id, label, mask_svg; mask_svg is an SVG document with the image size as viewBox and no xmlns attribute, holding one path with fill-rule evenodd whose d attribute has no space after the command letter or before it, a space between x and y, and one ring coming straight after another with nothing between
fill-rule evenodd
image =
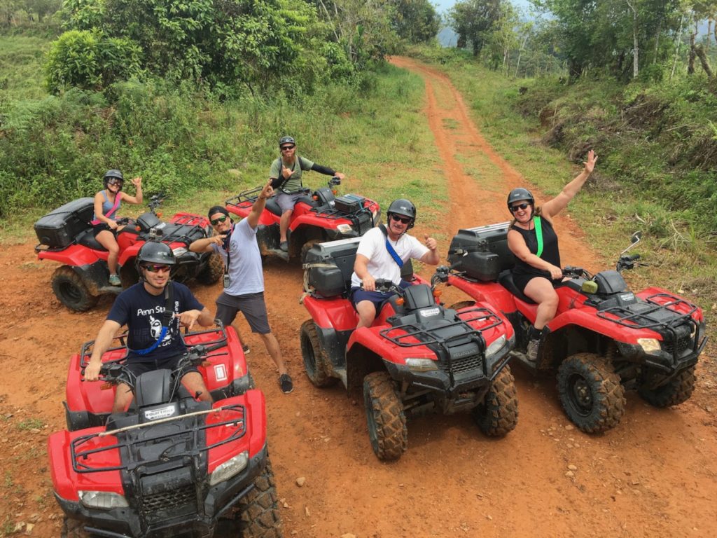
<instances>
[{"instance_id":1,"label":"red ATV ridden by the man in the white t-shirt","mask_svg":"<svg viewBox=\"0 0 717 538\"><path fill-rule=\"evenodd\" d=\"M301 326L306 374L317 387L341 379L346 389L363 386L369 438L381 460L397 460L407 448L407 418L429 410L472 411L486 435L505 435L518 422L518 400L508 352L513 328L483 303L455 311L433 290L447 280L438 268L429 285L404 265L398 288L376 280L376 289L397 295L370 327L347 298L359 239L315 245L307 255L303 304L311 318Z\"/></svg>"}]
</instances>

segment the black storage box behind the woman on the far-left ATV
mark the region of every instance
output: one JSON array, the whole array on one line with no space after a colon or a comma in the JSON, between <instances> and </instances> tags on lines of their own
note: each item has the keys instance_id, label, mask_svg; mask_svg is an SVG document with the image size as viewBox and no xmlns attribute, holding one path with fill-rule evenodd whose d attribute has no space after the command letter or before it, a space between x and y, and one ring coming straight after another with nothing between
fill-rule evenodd
<instances>
[{"instance_id":1,"label":"black storage box behind the woman on the far-left ATV","mask_svg":"<svg viewBox=\"0 0 717 538\"><path fill-rule=\"evenodd\" d=\"M94 214L95 202L92 198L72 200L35 222L37 240L50 248L70 246L77 235L92 226L90 220Z\"/></svg>"}]
</instances>

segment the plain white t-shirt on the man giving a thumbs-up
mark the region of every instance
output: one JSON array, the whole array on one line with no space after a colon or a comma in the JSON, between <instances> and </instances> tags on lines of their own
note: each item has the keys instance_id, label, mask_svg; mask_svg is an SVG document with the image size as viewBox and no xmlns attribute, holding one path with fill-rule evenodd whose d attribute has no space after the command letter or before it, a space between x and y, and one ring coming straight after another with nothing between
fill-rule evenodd
<instances>
[{"instance_id":1,"label":"plain white t-shirt on the man giving a thumbs-up","mask_svg":"<svg viewBox=\"0 0 717 538\"><path fill-rule=\"evenodd\" d=\"M399 240L394 242L389 239L389 243L399 255L399 258L406 263L409 259L420 260L428 252L428 247L417 240L412 235L404 234ZM369 274L376 278L385 278L391 280L394 284L401 283L401 268L394 258L391 258L388 249L386 249L386 236L381 232L379 227L371 228L359 242L359 248L356 255L364 255L369 258ZM361 285L361 279L356 272L351 275L351 286L357 287Z\"/></svg>"}]
</instances>

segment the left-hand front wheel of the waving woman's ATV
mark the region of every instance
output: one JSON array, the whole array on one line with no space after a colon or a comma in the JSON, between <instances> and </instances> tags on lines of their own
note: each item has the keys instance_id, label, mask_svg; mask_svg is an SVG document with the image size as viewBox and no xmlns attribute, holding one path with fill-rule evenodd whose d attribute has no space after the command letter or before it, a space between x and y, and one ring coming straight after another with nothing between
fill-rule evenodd
<instances>
[{"instance_id":1,"label":"left-hand front wheel of the waving woman's ATV","mask_svg":"<svg viewBox=\"0 0 717 538\"><path fill-rule=\"evenodd\" d=\"M558 369L560 401L570 420L586 433L614 428L625 413L625 388L612 362L593 353L578 353Z\"/></svg>"}]
</instances>

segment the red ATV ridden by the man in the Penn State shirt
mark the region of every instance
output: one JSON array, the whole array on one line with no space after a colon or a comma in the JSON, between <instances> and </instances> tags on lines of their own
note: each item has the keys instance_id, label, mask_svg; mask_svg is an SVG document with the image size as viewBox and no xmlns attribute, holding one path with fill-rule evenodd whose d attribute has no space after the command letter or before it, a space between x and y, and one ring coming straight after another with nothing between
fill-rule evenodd
<instances>
[{"instance_id":1,"label":"red ATV ridden by the man in the Penn State shirt","mask_svg":"<svg viewBox=\"0 0 717 538\"><path fill-rule=\"evenodd\" d=\"M281 537L267 452L264 395L253 387L231 327L184 335L174 372L134 377L125 336L103 356L105 383L82 382L93 342L70 362L67 430L48 440L54 495L66 537ZM214 403L179 382L197 367ZM112 413L119 382L128 412Z\"/></svg>"}]
</instances>

